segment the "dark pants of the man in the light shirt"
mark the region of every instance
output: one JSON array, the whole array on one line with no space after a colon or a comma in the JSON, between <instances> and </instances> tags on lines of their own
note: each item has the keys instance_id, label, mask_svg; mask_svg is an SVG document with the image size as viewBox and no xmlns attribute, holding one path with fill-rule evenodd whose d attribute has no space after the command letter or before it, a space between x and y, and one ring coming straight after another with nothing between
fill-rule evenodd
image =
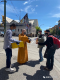
<instances>
[{"instance_id":1,"label":"dark pants of the man in the light shirt","mask_svg":"<svg viewBox=\"0 0 60 80\"><path fill-rule=\"evenodd\" d=\"M6 68L10 68L12 50L10 48L7 48L7 49L5 49L5 52L6 52Z\"/></svg>"}]
</instances>

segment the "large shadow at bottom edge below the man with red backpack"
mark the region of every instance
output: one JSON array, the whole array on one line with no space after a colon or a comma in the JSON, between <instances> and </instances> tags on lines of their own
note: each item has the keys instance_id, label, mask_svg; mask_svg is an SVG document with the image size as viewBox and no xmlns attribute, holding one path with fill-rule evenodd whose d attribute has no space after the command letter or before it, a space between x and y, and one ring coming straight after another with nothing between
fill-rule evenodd
<instances>
[{"instance_id":1,"label":"large shadow at bottom edge below the man with red backpack","mask_svg":"<svg viewBox=\"0 0 60 80\"><path fill-rule=\"evenodd\" d=\"M26 73L23 73L23 75L26 76L26 80L53 80L50 72L44 70L44 66L41 66L40 70L37 70L33 76Z\"/></svg>"}]
</instances>

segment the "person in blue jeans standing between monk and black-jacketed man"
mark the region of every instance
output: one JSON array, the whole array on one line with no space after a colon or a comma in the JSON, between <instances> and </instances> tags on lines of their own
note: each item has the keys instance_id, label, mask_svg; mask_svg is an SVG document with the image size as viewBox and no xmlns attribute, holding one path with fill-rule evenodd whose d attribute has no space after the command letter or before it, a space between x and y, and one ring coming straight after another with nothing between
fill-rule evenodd
<instances>
[{"instance_id":1,"label":"person in blue jeans standing between monk and black-jacketed man","mask_svg":"<svg viewBox=\"0 0 60 80\"><path fill-rule=\"evenodd\" d=\"M39 42L44 42L44 36L42 35L42 30L39 30L39 31L38 31L38 34L39 34L39 36L38 36L38 41L39 41ZM39 57L40 57L39 61L42 62L42 61L43 61L43 56L42 56L43 46L40 46L40 45L38 44L38 48L39 48Z\"/></svg>"}]
</instances>

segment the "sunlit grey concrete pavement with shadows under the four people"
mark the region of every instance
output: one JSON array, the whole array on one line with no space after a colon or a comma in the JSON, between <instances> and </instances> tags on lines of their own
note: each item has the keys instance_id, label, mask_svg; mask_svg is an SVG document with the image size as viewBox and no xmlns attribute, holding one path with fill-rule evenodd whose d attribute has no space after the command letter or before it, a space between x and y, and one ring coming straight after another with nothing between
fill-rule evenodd
<instances>
[{"instance_id":1,"label":"sunlit grey concrete pavement with shadows under the four people","mask_svg":"<svg viewBox=\"0 0 60 80\"><path fill-rule=\"evenodd\" d=\"M18 39L17 37L13 38ZM32 38L32 40L33 39L34 38ZM54 69L50 72L43 69L46 65L45 58L43 62L39 63L39 49L37 48L35 41L32 44L27 44L29 61L23 65L17 63L18 49L13 49L12 63L14 63L16 71L14 73L9 73L5 71L6 56L5 51L2 48L2 40L0 42L0 80L60 80L60 49L55 53ZM43 48L43 55L45 49L46 47Z\"/></svg>"}]
</instances>

